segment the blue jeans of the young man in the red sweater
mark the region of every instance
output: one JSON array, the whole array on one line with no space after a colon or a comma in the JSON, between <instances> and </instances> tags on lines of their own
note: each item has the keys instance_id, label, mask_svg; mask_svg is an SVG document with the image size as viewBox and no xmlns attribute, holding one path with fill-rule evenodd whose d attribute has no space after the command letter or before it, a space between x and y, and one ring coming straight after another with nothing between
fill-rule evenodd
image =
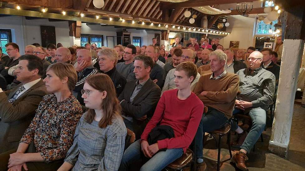
<instances>
[{"instance_id":1,"label":"blue jeans of the young man in the red sweater","mask_svg":"<svg viewBox=\"0 0 305 171\"><path fill-rule=\"evenodd\" d=\"M124 152L119 170L128 170L130 164L141 161L141 157L143 156L141 153L141 140L135 141ZM141 167L140 171L161 171L182 155L182 148L159 151Z\"/></svg>"}]
</instances>

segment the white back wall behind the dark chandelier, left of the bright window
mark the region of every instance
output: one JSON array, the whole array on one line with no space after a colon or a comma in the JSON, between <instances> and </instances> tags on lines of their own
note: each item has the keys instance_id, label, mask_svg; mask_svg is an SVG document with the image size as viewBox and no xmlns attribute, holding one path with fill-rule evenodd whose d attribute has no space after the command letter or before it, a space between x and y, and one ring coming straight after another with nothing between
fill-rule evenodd
<instances>
[{"instance_id":1,"label":"white back wall behind the dark chandelier, left of the bright window","mask_svg":"<svg viewBox=\"0 0 305 171\"><path fill-rule=\"evenodd\" d=\"M230 32L230 35L220 39L220 44L224 48L229 48L230 41L240 41L240 49L248 49L249 46L253 46L255 18L240 15L229 16L228 22L230 26L227 27L227 31Z\"/></svg>"}]
</instances>

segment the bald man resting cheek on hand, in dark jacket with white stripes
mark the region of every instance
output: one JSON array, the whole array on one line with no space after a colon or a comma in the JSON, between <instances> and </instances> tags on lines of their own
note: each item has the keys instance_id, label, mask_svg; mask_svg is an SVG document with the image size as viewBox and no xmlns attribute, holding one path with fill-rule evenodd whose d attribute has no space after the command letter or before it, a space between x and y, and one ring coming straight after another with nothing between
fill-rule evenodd
<instances>
[{"instance_id":1,"label":"bald man resting cheek on hand, in dark jacket with white stripes","mask_svg":"<svg viewBox=\"0 0 305 171\"><path fill-rule=\"evenodd\" d=\"M81 49L80 51L77 52L76 57L77 57L77 66L75 67L75 70L77 72L77 82L74 90L72 91L72 94L80 102L81 105L85 105L84 99L81 98L82 94L80 91L83 90L84 82L86 78L90 75L98 73L98 70L94 68L92 65L91 52L89 50Z\"/></svg>"}]
</instances>

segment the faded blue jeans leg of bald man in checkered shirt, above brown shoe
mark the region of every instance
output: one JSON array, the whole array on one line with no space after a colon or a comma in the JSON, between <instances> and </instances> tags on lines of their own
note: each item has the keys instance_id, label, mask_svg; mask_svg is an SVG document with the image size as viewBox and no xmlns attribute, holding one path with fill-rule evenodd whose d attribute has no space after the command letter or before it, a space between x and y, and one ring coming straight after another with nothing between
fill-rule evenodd
<instances>
[{"instance_id":1,"label":"faded blue jeans leg of bald man in checkered shirt, above brown shoe","mask_svg":"<svg viewBox=\"0 0 305 171\"><path fill-rule=\"evenodd\" d=\"M246 150L248 153L265 129L266 111L264 109L252 109L250 110L249 115L252 119L252 127L244 140L243 145L240 146L241 149Z\"/></svg>"}]
</instances>

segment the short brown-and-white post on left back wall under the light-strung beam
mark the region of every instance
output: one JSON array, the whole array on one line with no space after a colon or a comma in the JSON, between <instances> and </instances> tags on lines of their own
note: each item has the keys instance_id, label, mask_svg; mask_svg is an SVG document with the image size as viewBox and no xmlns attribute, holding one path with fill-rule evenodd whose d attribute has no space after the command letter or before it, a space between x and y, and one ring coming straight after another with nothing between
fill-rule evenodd
<instances>
[{"instance_id":1,"label":"short brown-and-white post on left back wall under the light-strung beam","mask_svg":"<svg viewBox=\"0 0 305 171\"><path fill-rule=\"evenodd\" d=\"M69 21L70 46L80 46L81 21Z\"/></svg>"}]
</instances>

